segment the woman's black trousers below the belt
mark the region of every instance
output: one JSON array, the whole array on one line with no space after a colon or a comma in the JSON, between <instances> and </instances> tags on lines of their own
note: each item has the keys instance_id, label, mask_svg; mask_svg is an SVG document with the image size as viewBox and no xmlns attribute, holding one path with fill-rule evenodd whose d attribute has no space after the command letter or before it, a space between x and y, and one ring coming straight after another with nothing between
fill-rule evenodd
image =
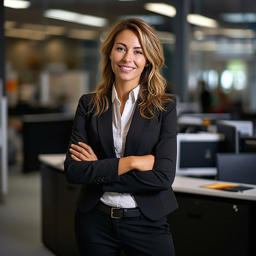
<instances>
[{"instance_id":1,"label":"woman's black trousers below the belt","mask_svg":"<svg viewBox=\"0 0 256 256\"><path fill-rule=\"evenodd\" d=\"M174 246L166 218L151 221L144 217L113 219L93 209L75 214L75 234L79 255L174 256Z\"/></svg>"}]
</instances>

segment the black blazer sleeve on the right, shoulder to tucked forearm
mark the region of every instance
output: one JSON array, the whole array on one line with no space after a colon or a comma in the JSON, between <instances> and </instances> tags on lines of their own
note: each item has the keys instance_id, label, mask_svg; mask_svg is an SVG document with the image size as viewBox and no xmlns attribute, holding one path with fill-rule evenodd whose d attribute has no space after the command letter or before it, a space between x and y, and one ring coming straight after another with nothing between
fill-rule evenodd
<instances>
[{"instance_id":1,"label":"black blazer sleeve on the right, shoulder to tucked forearm","mask_svg":"<svg viewBox=\"0 0 256 256\"><path fill-rule=\"evenodd\" d=\"M143 193L170 189L175 178L177 162L177 111L175 100L161 115L161 131L155 147L153 170L132 170L119 177L118 182L103 185L104 191Z\"/></svg>"}]
</instances>

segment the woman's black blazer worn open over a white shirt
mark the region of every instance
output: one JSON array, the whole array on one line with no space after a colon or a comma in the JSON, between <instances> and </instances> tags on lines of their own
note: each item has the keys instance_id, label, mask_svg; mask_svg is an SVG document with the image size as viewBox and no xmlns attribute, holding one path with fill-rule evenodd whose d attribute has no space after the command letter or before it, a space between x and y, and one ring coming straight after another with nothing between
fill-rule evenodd
<instances>
[{"instance_id":1,"label":"woman's black blazer worn open over a white shirt","mask_svg":"<svg viewBox=\"0 0 256 256\"><path fill-rule=\"evenodd\" d=\"M177 209L172 190L177 159L175 98L156 119L142 118L137 102L126 137L124 156L152 154L155 156L154 168L145 172L132 170L118 176L119 158L115 155L113 141L111 91L108 94L109 109L98 118L93 117L93 111L86 114L92 108L91 95L83 95L79 100L64 163L68 182L82 184L76 199L78 209L90 211L105 191L132 193L141 212L151 220L158 220ZM78 145L79 141L91 146L98 161L76 162L70 157L71 143Z\"/></svg>"}]
</instances>

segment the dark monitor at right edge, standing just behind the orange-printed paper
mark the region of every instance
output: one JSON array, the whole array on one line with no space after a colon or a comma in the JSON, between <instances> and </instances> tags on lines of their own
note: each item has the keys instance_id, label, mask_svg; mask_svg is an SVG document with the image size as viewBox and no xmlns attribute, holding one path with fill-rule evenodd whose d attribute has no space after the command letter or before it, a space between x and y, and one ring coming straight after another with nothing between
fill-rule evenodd
<instances>
[{"instance_id":1,"label":"dark monitor at right edge, standing just behind the orange-printed paper","mask_svg":"<svg viewBox=\"0 0 256 256\"><path fill-rule=\"evenodd\" d=\"M256 153L219 153L216 160L218 180L256 185Z\"/></svg>"}]
</instances>

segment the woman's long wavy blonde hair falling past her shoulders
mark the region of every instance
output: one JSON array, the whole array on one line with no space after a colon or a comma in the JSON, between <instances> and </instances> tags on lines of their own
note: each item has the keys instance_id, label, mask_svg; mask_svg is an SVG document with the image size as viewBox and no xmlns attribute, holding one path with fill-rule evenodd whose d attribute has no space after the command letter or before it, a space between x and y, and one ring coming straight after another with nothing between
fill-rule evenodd
<instances>
[{"instance_id":1,"label":"woman's long wavy blonde hair falling past her shoulders","mask_svg":"<svg viewBox=\"0 0 256 256\"><path fill-rule=\"evenodd\" d=\"M107 93L115 82L115 73L111 68L109 55L118 33L124 29L136 31L139 34L140 43L147 59L147 66L140 76L139 111L143 118L156 117L159 111L165 110L165 104L171 101L170 95L165 93L166 81L159 73L164 65L163 46L159 41L156 30L147 22L138 18L121 20L109 31L109 34L100 47L102 59L100 63L101 82L97 86L92 98L95 116L106 112L109 108Z\"/></svg>"}]
</instances>

